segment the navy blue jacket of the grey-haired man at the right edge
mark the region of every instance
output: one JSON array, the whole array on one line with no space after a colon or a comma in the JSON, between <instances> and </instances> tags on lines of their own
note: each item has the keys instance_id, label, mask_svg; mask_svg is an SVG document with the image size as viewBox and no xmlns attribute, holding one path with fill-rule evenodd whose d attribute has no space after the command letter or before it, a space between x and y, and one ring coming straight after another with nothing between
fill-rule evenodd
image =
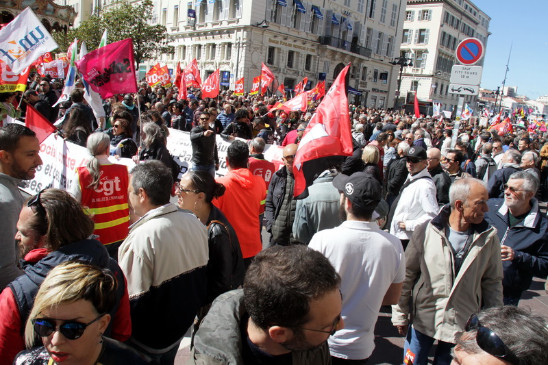
<instances>
[{"instance_id":1,"label":"navy blue jacket of the grey-haired man at the right edge","mask_svg":"<svg viewBox=\"0 0 548 365\"><path fill-rule=\"evenodd\" d=\"M533 276L545 279L548 275L548 218L540 212L538 201L531 200L532 208L525 219L508 228L508 207L504 199L489 199L489 212L485 215L501 244L512 247L514 260L503 261L504 297L520 297L529 289Z\"/></svg>"}]
</instances>

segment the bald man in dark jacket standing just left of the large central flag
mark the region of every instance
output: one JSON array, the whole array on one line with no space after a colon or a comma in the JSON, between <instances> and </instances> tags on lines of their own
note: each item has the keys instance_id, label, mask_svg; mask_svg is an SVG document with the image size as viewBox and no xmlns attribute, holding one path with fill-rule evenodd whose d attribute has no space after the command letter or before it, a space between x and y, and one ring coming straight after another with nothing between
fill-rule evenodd
<instances>
[{"instance_id":1,"label":"bald man in dark jacket standing just left of the large central flag","mask_svg":"<svg viewBox=\"0 0 548 365\"><path fill-rule=\"evenodd\" d=\"M295 177L293 177L293 160L297 153L297 144L284 147L282 161L284 167L278 170L270 181L269 193L266 195L264 222L266 231L271 234L270 245L288 246L299 241L293 238L293 221L297 201L293 199Z\"/></svg>"}]
</instances>

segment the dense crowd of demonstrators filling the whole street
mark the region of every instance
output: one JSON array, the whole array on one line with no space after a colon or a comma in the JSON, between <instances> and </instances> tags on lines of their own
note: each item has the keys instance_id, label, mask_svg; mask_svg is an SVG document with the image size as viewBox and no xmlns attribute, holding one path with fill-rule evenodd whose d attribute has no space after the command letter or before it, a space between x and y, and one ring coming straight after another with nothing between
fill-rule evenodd
<instances>
[{"instance_id":1,"label":"dense crowd of demonstrators filling the whole street","mask_svg":"<svg viewBox=\"0 0 548 365\"><path fill-rule=\"evenodd\" d=\"M25 100L91 158L29 198L40 144L1 94L0 364L173 364L190 328L189 364L366 364L390 305L407 365L434 342L434 364L548 363L546 318L517 307L548 276L548 136L349 105L352 155L296 199L317 103L145 82L96 118L79 87L56 109L60 86ZM169 129L189 132L184 175Z\"/></svg>"}]
</instances>

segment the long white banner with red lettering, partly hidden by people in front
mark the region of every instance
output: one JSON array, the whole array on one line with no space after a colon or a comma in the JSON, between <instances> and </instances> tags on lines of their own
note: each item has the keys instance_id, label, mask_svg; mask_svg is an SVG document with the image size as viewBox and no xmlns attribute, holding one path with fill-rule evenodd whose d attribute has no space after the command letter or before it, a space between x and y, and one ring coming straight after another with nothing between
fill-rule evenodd
<instances>
[{"instance_id":1,"label":"long white banner with red lettering, partly hidden by people in front","mask_svg":"<svg viewBox=\"0 0 548 365\"><path fill-rule=\"evenodd\" d=\"M216 141L219 162L221 162L216 175L224 176L228 173L226 156L230 143L222 140L221 136L216 136ZM167 148L169 153L175 157L175 161L181 166L179 173L179 177L181 177L192 167L190 133L170 128ZM273 146L272 144L266 144L264 150L264 158L273 162L276 169L284 166L282 162L282 150L282 147ZM40 190L45 188L70 191L73 188L73 184L78 184L75 173L76 168L86 166L90 155L86 148L66 142L60 137L55 138L55 134L51 134L51 136L40 144L40 158L42 158L43 164L36 168L36 176L32 180L26 181L25 186L21 188L21 190L28 194L38 194ZM135 166L133 160L129 158L115 160L114 157L111 157L109 159L116 164L126 165L128 171L131 171Z\"/></svg>"}]
</instances>

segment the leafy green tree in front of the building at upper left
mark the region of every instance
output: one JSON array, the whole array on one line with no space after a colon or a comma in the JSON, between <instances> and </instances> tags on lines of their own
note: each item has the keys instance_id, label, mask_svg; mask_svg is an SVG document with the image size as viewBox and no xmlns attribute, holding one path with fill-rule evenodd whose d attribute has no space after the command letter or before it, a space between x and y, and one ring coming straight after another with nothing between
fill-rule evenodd
<instances>
[{"instance_id":1,"label":"leafy green tree in front of the building at upper left","mask_svg":"<svg viewBox=\"0 0 548 365\"><path fill-rule=\"evenodd\" d=\"M160 54L173 54L164 25L150 25L153 16L151 0L137 5L118 3L112 10L103 12L101 18L108 29L109 42L132 38L137 66L145 58L158 58Z\"/></svg>"}]
</instances>

